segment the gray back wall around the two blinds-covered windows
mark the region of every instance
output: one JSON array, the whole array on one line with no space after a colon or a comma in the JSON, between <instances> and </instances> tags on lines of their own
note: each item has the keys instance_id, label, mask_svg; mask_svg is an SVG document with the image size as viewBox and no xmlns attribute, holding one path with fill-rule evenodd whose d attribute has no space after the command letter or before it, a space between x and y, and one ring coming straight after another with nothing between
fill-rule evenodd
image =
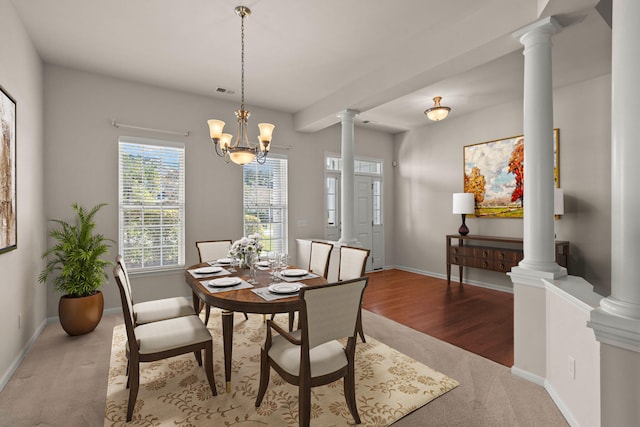
<instances>
[{"instance_id":1,"label":"gray back wall around the two blinds-covered windows","mask_svg":"<svg viewBox=\"0 0 640 427\"><path fill-rule=\"evenodd\" d=\"M238 104L118 80L54 65L45 66L46 216L68 218L70 206L109 205L97 216L98 231L117 240L118 137L138 136L184 142L186 146L186 262L195 264L196 240L237 239L242 235L242 170L217 157L209 141L206 120L224 120L235 133ZM250 94L249 94L250 95ZM295 239L323 237L324 156L340 153L340 126L314 134L293 130L292 116L248 106L250 130L258 121L276 124L274 153L289 158L289 248ZM166 130L189 130L187 137L135 131L111 126L111 120ZM393 241L393 138L385 133L356 129L356 155L377 157L385 165L387 242ZM300 226L300 224L306 224ZM114 247L112 256L117 253ZM295 259L295 258L294 258ZM111 276L111 275L110 275ZM143 301L176 294L190 295L183 271L137 276L134 296ZM115 283L104 287L105 307L120 307ZM48 315L57 315L58 295L50 291Z\"/></svg>"}]
</instances>

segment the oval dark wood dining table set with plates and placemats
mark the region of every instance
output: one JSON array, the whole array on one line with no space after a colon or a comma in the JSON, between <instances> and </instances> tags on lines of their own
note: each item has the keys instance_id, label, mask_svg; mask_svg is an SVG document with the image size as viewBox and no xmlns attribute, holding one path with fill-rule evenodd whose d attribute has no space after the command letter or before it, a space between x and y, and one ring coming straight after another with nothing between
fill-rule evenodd
<instances>
[{"instance_id":1,"label":"oval dark wood dining table set with plates and placemats","mask_svg":"<svg viewBox=\"0 0 640 427\"><path fill-rule=\"evenodd\" d=\"M258 265L252 274L251 269L227 261L192 265L185 269L185 280L191 288L196 313L203 303L222 309L224 375L226 390L230 392L234 313L266 316L298 311L300 299L295 289L326 284L327 280L293 266L274 272L268 266Z\"/></svg>"}]
</instances>

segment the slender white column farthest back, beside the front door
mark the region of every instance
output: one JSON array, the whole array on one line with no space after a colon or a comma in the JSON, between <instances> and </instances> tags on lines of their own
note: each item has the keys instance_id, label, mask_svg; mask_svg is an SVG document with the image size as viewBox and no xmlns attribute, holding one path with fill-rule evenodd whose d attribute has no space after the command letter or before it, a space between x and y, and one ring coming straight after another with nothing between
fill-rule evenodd
<instances>
[{"instance_id":1,"label":"slender white column farthest back, beside the front door","mask_svg":"<svg viewBox=\"0 0 640 427\"><path fill-rule=\"evenodd\" d=\"M357 242L355 219L355 136L353 118L358 111L344 110L338 117L342 122L342 179L340 197L340 220L342 223L340 243Z\"/></svg>"}]
</instances>

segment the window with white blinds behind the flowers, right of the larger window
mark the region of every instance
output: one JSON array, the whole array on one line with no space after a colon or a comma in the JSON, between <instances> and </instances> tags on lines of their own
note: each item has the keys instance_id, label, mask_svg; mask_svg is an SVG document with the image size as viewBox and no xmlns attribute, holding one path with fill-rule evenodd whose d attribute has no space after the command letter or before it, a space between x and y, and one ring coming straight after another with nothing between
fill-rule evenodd
<instances>
[{"instance_id":1,"label":"window with white blinds behind the flowers, right of the larger window","mask_svg":"<svg viewBox=\"0 0 640 427\"><path fill-rule=\"evenodd\" d=\"M244 235L258 233L265 251L287 252L287 159L243 166Z\"/></svg>"}]
</instances>

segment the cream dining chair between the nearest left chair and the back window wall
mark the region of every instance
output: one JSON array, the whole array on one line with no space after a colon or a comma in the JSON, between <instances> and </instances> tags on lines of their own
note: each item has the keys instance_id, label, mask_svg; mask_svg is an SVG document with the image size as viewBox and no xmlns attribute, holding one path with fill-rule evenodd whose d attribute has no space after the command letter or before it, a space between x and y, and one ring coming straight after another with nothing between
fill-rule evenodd
<instances>
[{"instance_id":1,"label":"cream dining chair between the nearest left chair and the back window wall","mask_svg":"<svg viewBox=\"0 0 640 427\"><path fill-rule=\"evenodd\" d=\"M134 303L131 282L127 266L121 255L116 256L116 264L122 269L122 280L125 290L132 303L134 325L157 322L158 320L172 319L174 317L190 316L196 314L193 303L185 297L163 298L159 300Z\"/></svg>"}]
</instances>

